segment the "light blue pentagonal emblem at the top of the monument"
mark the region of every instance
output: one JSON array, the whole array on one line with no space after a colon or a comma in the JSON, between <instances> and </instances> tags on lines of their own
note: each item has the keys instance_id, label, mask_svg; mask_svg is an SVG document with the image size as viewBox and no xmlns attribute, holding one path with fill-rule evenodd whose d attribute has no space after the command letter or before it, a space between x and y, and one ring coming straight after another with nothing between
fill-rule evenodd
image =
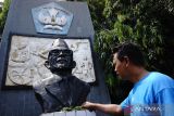
<instances>
[{"instance_id":1,"label":"light blue pentagonal emblem at the top of the monument","mask_svg":"<svg viewBox=\"0 0 174 116\"><path fill-rule=\"evenodd\" d=\"M37 33L67 35L73 14L57 2L32 9Z\"/></svg>"}]
</instances>

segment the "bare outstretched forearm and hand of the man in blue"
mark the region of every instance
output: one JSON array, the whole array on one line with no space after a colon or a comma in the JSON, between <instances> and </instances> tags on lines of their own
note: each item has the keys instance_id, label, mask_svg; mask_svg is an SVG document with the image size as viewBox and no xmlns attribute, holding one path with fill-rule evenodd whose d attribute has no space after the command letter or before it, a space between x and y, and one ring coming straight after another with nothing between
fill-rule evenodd
<instances>
[{"instance_id":1,"label":"bare outstretched forearm and hand of the man in blue","mask_svg":"<svg viewBox=\"0 0 174 116\"><path fill-rule=\"evenodd\" d=\"M122 107L116 104L99 104L99 103L85 102L83 104L83 107L88 109L101 111L103 113L113 114L115 116L116 115L120 116L123 113Z\"/></svg>"}]
</instances>

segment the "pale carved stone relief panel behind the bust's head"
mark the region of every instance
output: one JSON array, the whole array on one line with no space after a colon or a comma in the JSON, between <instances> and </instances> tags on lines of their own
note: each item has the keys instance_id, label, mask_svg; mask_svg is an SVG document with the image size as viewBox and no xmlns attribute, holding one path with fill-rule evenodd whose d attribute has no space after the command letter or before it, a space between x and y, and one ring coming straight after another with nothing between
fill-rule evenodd
<instances>
[{"instance_id":1,"label":"pale carved stone relief panel behind the bust's head","mask_svg":"<svg viewBox=\"0 0 174 116\"><path fill-rule=\"evenodd\" d=\"M50 47L55 39L12 36L5 86L32 86L35 80L52 76L46 68ZM88 39L64 39L74 53L76 67L73 69L80 80L95 82L95 69Z\"/></svg>"}]
</instances>

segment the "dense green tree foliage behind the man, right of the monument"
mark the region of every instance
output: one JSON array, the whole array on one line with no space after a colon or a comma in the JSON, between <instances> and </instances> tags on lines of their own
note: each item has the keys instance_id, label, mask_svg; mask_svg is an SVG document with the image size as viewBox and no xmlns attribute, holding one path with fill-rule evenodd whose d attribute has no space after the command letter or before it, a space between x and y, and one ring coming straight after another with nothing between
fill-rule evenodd
<instances>
[{"instance_id":1,"label":"dense green tree foliage behind the man, right of the monument","mask_svg":"<svg viewBox=\"0 0 174 116\"><path fill-rule=\"evenodd\" d=\"M173 0L87 0L96 30L95 50L103 64L111 98L121 94L122 81L113 77L111 48L138 43L149 70L174 76ZM123 88L122 88L123 89ZM113 101L115 102L115 101Z\"/></svg>"}]
</instances>

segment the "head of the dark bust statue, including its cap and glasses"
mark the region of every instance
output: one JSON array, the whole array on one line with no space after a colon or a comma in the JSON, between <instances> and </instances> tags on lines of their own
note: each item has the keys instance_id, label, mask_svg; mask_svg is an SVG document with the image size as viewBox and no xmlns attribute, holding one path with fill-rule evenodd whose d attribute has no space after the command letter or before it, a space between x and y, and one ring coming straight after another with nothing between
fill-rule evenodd
<instances>
[{"instance_id":1,"label":"head of the dark bust statue, including its cap and glasses","mask_svg":"<svg viewBox=\"0 0 174 116\"><path fill-rule=\"evenodd\" d=\"M51 72L72 72L76 63L73 61L73 51L64 40L57 39L52 43L45 65Z\"/></svg>"}]
</instances>

